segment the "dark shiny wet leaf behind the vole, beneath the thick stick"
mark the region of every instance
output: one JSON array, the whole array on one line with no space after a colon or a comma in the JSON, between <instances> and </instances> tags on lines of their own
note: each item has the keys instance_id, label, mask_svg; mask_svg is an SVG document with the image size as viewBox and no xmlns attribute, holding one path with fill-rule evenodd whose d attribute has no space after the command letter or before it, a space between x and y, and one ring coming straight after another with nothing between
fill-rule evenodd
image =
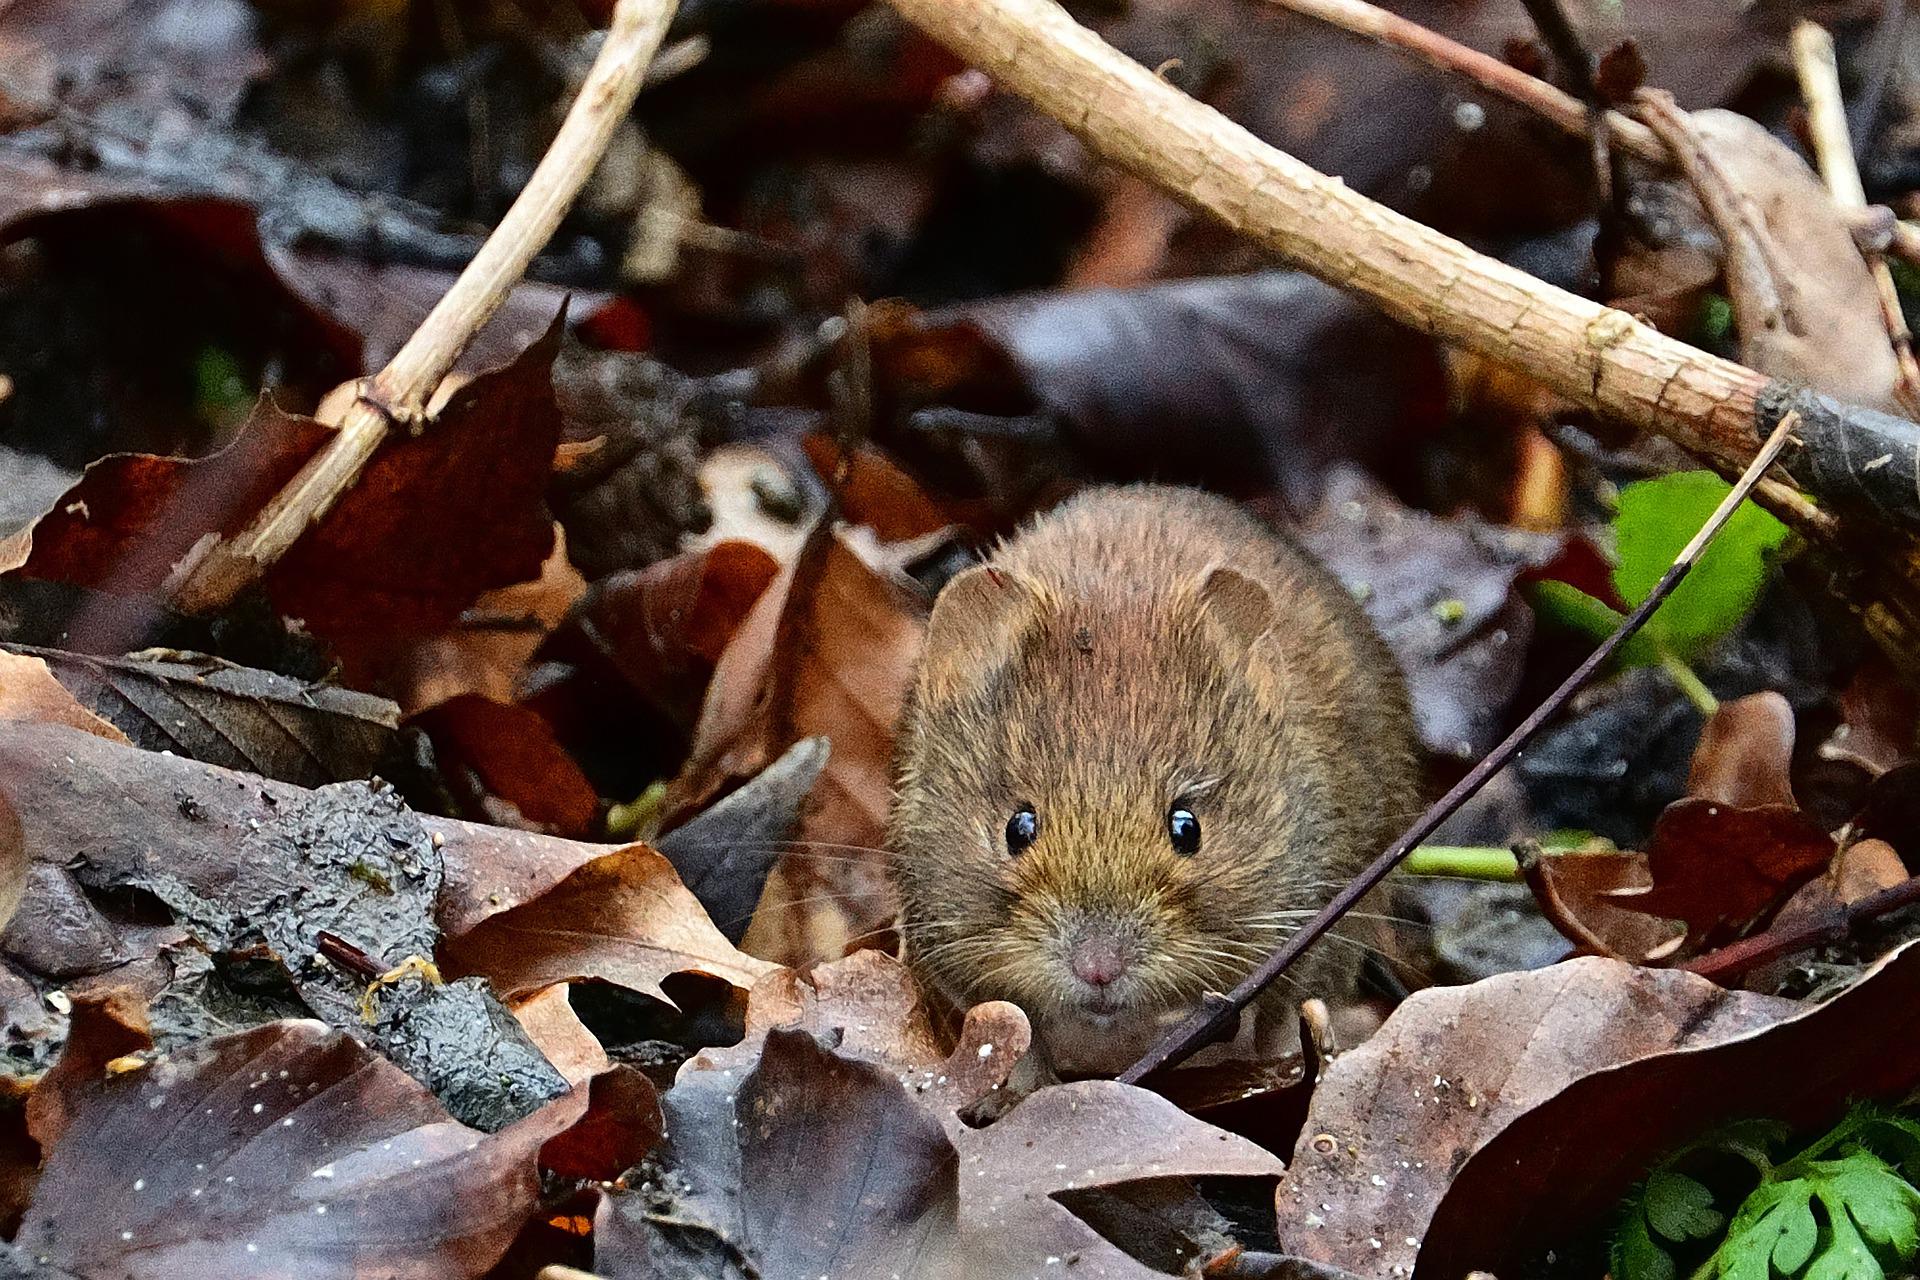
<instances>
[{"instance_id":1,"label":"dark shiny wet leaf behind the vole, beneath the thick stick","mask_svg":"<svg viewBox=\"0 0 1920 1280\"><path fill-rule=\"evenodd\" d=\"M1298 273L1039 294L964 315L1004 344L1094 470L1121 478L1279 489L1311 509L1332 464L1390 466L1444 403L1427 338Z\"/></svg>"}]
</instances>

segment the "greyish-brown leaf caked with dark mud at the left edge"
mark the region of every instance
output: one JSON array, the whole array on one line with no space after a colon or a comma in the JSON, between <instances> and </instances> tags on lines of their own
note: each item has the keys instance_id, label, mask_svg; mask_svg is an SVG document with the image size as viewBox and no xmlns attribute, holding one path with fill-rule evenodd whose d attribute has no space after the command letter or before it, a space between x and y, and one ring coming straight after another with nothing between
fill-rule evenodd
<instances>
[{"instance_id":1,"label":"greyish-brown leaf caked with dark mud at the left edge","mask_svg":"<svg viewBox=\"0 0 1920 1280\"><path fill-rule=\"evenodd\" d=\"M35 971L65 981L180 948L154 990L177 992L184 1002L177 1021L204 1034L207 1000L232 1002L240 1025L276 1007L238 1000L207 952L223 965L267 961L286 973L284 988L255 973L265 990L280 992L278 1007L298 990L315 1013L420 1071L474 1123L497 1126L561 1086L476 981L382 984L371 996L371 1023L361 1000L371 977L434 954L436 913L470 925L563 879L601 846L447 819L428 833L390 793L303 791L52 725L0 735L0 794L25 816L35 860L27 902L36 925L10 931L6 946ZM129 892L163 904L202 950L102 908ZM365 971L342 969L323 952L321 933L365 954ZM211 1025L221 1021L211 1015Z\"/></svg>"}]
</instances>

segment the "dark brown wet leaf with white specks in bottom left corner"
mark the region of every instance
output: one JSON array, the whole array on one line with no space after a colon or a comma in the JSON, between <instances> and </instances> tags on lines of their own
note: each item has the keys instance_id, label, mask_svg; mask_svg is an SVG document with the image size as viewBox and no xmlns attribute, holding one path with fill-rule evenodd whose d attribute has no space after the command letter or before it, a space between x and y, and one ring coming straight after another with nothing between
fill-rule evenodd
<instances>
[{"instance_id":1,"label":"dark brown wet leaf with white specks in bottom left corner","mask_svg":"<svg viewBox=\"0 0 1920 1280\"><path fill-rule=\"evenodd\" d=\"M580 1102L488 1136L348 1036L273 1023L98 1080L15 1245L79 1274L478 1276Z\"/></svg>"}]
</instances>

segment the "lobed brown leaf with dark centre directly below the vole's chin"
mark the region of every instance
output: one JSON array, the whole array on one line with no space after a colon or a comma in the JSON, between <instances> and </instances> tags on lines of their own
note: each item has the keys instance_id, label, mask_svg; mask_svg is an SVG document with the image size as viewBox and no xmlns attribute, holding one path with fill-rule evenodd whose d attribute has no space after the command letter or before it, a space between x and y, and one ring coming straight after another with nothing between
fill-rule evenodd
<instances>
[{"instance_id":1,"label":"lobed brown leaf with dark centre directly below the vole's chin","mask_svg":"<svg viewBox=\"0 0 1920 1280\"><path fill-rule=\"evenodd\" d=\"M1079 1219L1075 1194L1279 1173L1254 1144L1110 1080L1043 1088L985 1128L966 1125L956 1109L995 1094L1025 1048L1025 1015L993 1004L972 1009L941 1055L912 979L872 952L810 979L768 977L747 1038L693 1057L664 1098L668 1201L609 1203L593 1268L735 1274L720 1259L745 1255L751 1274L780 1280L1048 1268L1148 1280L1164 1272ZM668 1257L687 1265L689 1238L720 1249L710 1267L666 1268Z\"/></svg>"}]
</instances>

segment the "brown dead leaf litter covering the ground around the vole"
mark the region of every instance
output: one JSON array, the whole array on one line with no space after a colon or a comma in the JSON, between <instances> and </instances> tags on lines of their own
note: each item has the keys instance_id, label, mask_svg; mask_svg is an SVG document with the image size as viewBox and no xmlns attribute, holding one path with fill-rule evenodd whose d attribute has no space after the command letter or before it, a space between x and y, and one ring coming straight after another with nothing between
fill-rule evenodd
<instances>
[{"instance_id":1,"label":"brown dead leaf litter covering the ground around the vole","mask_svg":"<svg viewBox=\"0 0 1920 1280\"><path fill-rule=\"evenodd\" d=\"M1177 478L1290 528L1438 791L1724 482L1273 271L885 8L799 8L689 6L428 418L198 618L182 578L478 246L605 6L0 13L6 1268L1559 1280L1622 1203L1636 1267L1910 1261L1897 1151L1749 1207L1676 1163L1766 1125L1789 1169L1914 1086L1912 670L1791 503L1450 827L1519 885L1409 879L1417 917L1332 942L1369 983L1308 1061L1058 1082L1020 1009L914 988L893 725L931 599L1020 520ZM1279 4L1083 10L1430 225L1891 403L1747 19L1626 15L1609 83L1680 90L1693 163L1605 207L1582 148ZM1409 15L1540 65L1517 15ZM1874 65L1860 159L1899 175L1910 69ZM1905 501L1816 445L1822 493Z\"/></svg>"}]
</instances>

